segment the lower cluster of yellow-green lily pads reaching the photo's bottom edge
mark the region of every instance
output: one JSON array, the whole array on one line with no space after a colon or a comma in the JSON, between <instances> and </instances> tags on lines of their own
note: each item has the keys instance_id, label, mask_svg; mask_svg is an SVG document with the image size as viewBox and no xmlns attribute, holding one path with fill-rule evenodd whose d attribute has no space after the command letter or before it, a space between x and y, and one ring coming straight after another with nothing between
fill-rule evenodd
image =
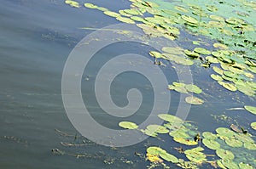
<instances>
[{"instance_id":1,"label":"lower cluster of yellow-green lily pads reaching the photo's bottom edge","mask_svg":"<svg viewBox=\"0 0 256 169\"><path fill-rule=\"evenodd\" d=\"M131 121L121 121L119 127L140 130L151 137L168 133L174 141L184 145L181 153L188 160L178 159L166 149L150 146L146 154L148 161L152 163L172 162L182 168L198 168L203 163L210 163L212 166L224 169L253 169L255 167L253 151L256 150L256 144L252 135L245 133L240 127L231 125L233 131L230 128L218 127L216 133L202 132L201 138L201 134L196 131L195 125L191 122L182 121L175 115L160 114L158 116L166 121L162 126L148 125L146 129L138 129L137 124ZM199 143L203 145L198 146ZM191 149L190 146L193 148ZM206 155L205 149L207 152L211 151L212 155ZM240 152L246 155L240 155ZM209 159L208 156L211 158Z\"/></svg>"}]
</instances>

